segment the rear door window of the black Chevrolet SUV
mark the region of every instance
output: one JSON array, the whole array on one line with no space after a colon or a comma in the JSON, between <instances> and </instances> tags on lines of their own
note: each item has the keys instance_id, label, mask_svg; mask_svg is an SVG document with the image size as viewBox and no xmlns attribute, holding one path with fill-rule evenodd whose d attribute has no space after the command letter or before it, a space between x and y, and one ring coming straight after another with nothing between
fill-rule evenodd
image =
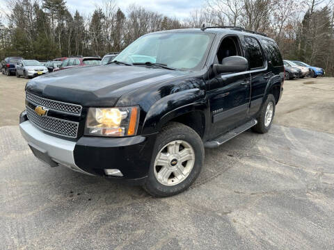
<instances>
[{"instance_id":1,"label":"rear door window of the black Chevrolet SUV","mask_svg":"<svg viewBox=\"0 0 334 250\"><path fill-rule=\"evenodd\" d=\"M260 43L255 38L245 37L246 51L248 53L248 63L250 69L264 66L263 55Z\"/></svg>"}]
</instances>

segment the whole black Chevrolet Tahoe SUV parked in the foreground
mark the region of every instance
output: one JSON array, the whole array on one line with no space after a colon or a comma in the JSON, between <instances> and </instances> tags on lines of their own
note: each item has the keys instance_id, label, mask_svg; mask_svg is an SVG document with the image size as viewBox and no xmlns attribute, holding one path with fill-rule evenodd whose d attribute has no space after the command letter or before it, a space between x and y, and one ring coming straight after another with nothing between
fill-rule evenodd
<instances>
[{"instance_id":1,"label":"whole black Chevrolet Tahoe SUV parked in the foreground","mask_svg":"<svg viewBox=\"0 0 334 250\"><path fill-rule=\"evenodd\" d=\"M107 65L26 84L20 129L51 167L138 183L155 197L196 180L205 147L267 133L283 92L276 42L237 27L143 35Z\"/></svg>"}]
</instances>

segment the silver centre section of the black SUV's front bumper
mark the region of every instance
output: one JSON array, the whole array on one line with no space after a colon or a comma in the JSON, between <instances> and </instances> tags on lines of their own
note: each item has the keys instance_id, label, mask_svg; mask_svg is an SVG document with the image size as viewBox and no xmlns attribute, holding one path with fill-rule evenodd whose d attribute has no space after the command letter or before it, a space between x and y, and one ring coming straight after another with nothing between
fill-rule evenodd
<instances>
[{"instance_id":1,"label":"silver centre section of the black SUV's front bumper","mask_svg":"<svg viewBox=\"0 0 334 250\"><path fill-rule=\"evenodd\" d=\"M73 151L76 142L48 135L33 126L29 121L19 124L19 128L30 147L46 153L51 160L59 165L64 165L77 172L92 175L80 169L75 164Z\"/></svg>"}]
</instances>

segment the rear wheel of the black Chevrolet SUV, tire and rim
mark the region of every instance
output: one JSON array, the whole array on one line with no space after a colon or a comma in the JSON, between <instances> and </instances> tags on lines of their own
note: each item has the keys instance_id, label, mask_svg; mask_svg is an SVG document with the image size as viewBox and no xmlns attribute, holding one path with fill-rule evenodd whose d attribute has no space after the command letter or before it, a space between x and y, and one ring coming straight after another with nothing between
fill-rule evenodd
<instances>
[{"instance_id":1,"label":"rear wheel of the black Chevrolet SUV, tire and rim","mask_svg":"<svg viewBox=\"0 0 334 250\"><path fill-rule=\"evenodd\" d=\"M267 101L263 104L260 115L257 117L257 124L253 126L253 131L257 133L267 133L273 123L275 115L275 97L268 94Z\"/></svg>"}]
</instances>

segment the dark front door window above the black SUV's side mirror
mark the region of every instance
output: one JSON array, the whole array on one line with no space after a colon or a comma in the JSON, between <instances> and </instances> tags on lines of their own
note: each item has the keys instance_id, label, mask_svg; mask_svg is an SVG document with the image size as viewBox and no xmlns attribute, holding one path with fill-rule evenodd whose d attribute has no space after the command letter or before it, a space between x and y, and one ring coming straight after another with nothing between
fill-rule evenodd
<instances>
[{"instance_id":1,"label":"dark front door window above the black SUV's side mirror","mask_svg":"<svg viewBox=\"0 0 334 250\"><path fill-rule=\"evenodd\" d=\"M216 55L217 63L221 64L222 60L229 56L241 56L238 38L234 36L224 38L221 41Z\"/></svg>"}]
</instances>

